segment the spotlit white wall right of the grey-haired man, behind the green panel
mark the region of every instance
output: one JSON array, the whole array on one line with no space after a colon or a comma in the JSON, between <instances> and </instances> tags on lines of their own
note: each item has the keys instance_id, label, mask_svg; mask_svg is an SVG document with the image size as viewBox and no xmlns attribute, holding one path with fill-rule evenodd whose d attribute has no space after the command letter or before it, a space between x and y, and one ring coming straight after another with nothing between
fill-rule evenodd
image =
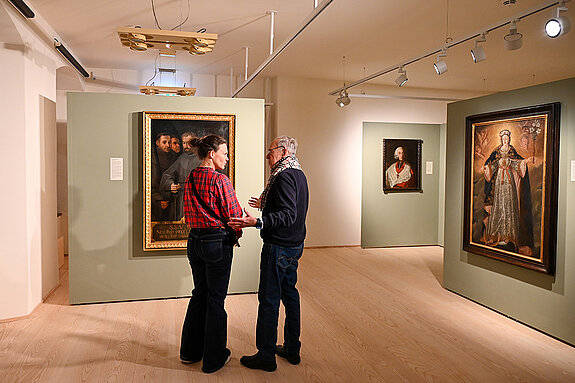
<instances>
[{"instance_id":1,"label":"spotlit white wall right of the grey-haired man, behind the green panel","mask_svg":"<svg viewBox=\"0 0 575 383\"><path fill-rule=\"evenodd\" d=\"M306 246L360 244L364 121L446 121L445 101L352 97L350 105L339 108L329 92L340 86L291 77L274 83L277 134L298 139L298 158L310 188Z\"/></svg>"}]
</instances>

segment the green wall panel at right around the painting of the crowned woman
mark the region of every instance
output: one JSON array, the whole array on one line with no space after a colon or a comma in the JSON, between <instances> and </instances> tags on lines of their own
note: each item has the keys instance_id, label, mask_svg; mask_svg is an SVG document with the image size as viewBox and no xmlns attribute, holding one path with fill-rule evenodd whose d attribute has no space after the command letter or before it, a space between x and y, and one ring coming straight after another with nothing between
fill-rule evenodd
<instances>
[{"instance_id":1,"label":"green wall panel at right around the painting of the crowned woman","mask_svg":"<svg viewBox=\"0 0 575 383\"><path fill-rule=\"evenodd\" d=\"M555 276L462 250L465 118L530 105L561 103ZM448 106L443 282L447 289L575 344L575 78Z\"/></svg>"}]
</instances>

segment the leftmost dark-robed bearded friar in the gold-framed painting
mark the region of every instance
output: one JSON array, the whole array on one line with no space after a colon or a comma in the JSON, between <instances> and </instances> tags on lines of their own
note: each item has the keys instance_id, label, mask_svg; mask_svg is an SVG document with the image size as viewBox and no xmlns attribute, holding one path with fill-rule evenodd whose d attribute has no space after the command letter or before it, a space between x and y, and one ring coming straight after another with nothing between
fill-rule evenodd
<instances>
[{"instance_id":1,"label":"leftmost dark-robed bearded friar in the gold-framed painting","mask_svg":"<svg viewBox=\"0 0 575 383\"><path fill-rule=\"evenodd\" d=\"M170 193L162 192L162 174L175 161L170 149L171 135L161 132L156 135L156 153L152 153L152 221L169 220Z\"/></svg>"}]
</instances>

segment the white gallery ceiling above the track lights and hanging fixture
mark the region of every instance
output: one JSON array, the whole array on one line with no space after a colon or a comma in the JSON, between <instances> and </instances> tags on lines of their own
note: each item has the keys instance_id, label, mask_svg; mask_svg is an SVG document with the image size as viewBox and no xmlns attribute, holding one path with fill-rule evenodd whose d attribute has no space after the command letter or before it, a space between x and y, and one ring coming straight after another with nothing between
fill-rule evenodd
<instances>
[{"instance_id":1,"label":"white gallery ceiling above the track lights and hanging fixture","mask_svg":"<svg viewBox=\"0 0 575 383\"><path fill-rule=\"evenodd\" d=\"M87 68L153 70L156 52L123 47L116 29L139 25L157 28L151 0L25 0L59 34ZM186 17L188 0L154 0L161 28L171 29ZM213 53L178 53L176 67L191 73L243 74L244 47L249 47L249 74L269 54L270 19L277 11L275 47L300 27L313 11L313 0L189 0L184 31L206 28L219 35ZM262 76L298 76L354 82L440 47L446 36L459 39L550 1L517 0L334 0L274 61ZM566 15L575 24L575 2ZM550 39L543 26L547 9L521 20L523 47L503 49L507 27L492 31L484 44L487 60L471 61L473 41L448 51L449 70L438 76L435 56L406 67L406 87L498 92L575 76L575 31ZM233 68L233 69L232 69ZM365 68L365 69L364 69ZM393 85L396 72L371 80ZM350 92L355 91L351 89Z\"/></svg>"}]
</instances>

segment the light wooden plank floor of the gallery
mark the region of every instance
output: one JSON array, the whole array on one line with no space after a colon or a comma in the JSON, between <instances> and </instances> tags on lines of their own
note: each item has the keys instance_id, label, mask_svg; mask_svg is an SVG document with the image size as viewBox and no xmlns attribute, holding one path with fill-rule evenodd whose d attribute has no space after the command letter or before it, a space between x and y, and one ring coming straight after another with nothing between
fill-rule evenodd
<instances>
[{"instance_id":1,"label":"light wooden plank floor of the gallery","mask_svg":"<svg viewBox=\"0 0 575 383\"><path fill-rule=\"evenodd\" d=\"M575 382L575 348L443 289L441 271L438 247L306 250L302 363L242 367L257 297L233 295L232 360L211 375L178 359L187 299L70 306L64 274L0 323L0 382Z\"/></svg>"}]
</instances>

